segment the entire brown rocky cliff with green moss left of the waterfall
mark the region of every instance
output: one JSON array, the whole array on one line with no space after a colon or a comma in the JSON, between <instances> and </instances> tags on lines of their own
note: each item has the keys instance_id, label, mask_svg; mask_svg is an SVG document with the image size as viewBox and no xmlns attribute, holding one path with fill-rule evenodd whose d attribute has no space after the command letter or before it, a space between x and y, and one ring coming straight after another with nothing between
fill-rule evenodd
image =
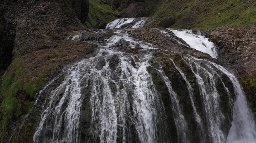
<instances>
[{"instance_id":1,"label":"entire brown rocky cliff with green moss left of the waterfall","mask_svg":"<svg viewBox=\"0 0 256 143\"><path fill-rule=\"evenodd\" d=\"M85 29L88 0L3 0L0 9L0 75L5 70L0 86L0 142L32 143L40 113L34 110L26 118L29 122L20 117L32 108L33 94L65 65L97 47L66 42L63 37L64 31Z\"/></svg>"}]
</instances>

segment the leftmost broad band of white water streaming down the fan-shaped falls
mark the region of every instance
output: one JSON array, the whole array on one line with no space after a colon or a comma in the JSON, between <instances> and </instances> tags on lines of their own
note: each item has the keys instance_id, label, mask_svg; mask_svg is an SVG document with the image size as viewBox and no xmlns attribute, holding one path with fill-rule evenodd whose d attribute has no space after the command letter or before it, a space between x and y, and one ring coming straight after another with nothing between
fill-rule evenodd
<instances>
[{"instance_id":1,"label":"leftmost broad band of white water streaming down the fan-shaped falls","mask_svg":"<svg viewBox=\"0 0 256 143\"><path fill-rule=\"evenodd\" d=\"M47 108L33 137L34 143L79 143L79 119L81 109L80 71L83 63L71 66L62 84L52 91ZM65 107L67 104L67 107ZM64 112L65 111L65 112ZM48 120L52 119L52 124ZM48 135L46 131L52 132ZM50 137L47 137L50 136Z\"/></svg>"}]
</instances>

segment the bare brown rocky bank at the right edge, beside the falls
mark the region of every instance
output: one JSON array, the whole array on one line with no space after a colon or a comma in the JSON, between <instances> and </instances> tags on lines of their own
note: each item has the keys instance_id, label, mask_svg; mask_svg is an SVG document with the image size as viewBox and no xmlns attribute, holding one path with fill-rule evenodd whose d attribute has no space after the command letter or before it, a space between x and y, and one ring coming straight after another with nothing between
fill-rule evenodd
<instances>
[{"instance_id":1,"label":"bare brown rocky bank at the right edge, beside the falls","mask_svg":"<svg viewBox=\"0 0 256 143\"><path fill-rule=\"evenodd\" d=\"M256 117L256 29L215 28L202 31L218 47L218 59L239 78Z\"/></svg>"}]
</instances>

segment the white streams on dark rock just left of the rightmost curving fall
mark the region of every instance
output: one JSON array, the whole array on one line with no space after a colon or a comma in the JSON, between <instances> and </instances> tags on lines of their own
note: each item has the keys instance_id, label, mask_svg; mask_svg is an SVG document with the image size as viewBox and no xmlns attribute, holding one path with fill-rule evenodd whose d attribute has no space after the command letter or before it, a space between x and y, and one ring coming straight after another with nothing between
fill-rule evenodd
<instances>
[{"instance_id":1,"label":"white streams on dark rock just left of the rightmost curving fall","mask_svg":"<svg viewBox=\"0 0 256 143\"><path fill-rule=\"evenodd\" d=\"M224 143L225 135L221 131L221 123L224 121L224 115L220 109L220 95L216 89L216 80L213 74L210 73L197 61L192 58L186 58L186 62L195 74L197 83L200 87L200 93L204 100L204 110L206 112L206 120L209 127L209 134L211 135L213 143ZM208 80L205 77L209 78Z\"/></svg>"}]
</instances>

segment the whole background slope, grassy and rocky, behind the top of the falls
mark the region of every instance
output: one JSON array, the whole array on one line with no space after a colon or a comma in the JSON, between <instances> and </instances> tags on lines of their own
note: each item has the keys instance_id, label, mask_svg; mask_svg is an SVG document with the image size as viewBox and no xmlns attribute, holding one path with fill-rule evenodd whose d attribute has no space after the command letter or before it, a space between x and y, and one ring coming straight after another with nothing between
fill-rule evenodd
<instances>
[{"instance_id":1,"label":"whole background slope, grassy and rocky, behind the top of the falls","mask_svg":"<svg viewBox=\"0 0 256 143\"><path fill-rule=\"evenodd\" d=\"M173 28L202 29L256 24L255 0L91 0L91 27L99 28L102 21L116 17L149 17L155 21L150 27L174 17ZM112 7L112 8L111 8ZM114 11L113 11L114 10Z\"/></svg>"}]
</instances>

